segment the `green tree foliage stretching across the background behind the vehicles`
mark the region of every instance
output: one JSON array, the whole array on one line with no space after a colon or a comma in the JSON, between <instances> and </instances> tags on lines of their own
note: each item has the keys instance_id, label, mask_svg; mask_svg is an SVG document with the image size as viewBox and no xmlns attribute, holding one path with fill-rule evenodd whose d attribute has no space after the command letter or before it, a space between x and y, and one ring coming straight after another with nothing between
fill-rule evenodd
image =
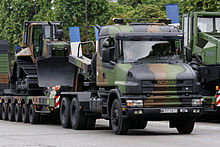
<instances>
[{"instance_id":1,"label":"green tree foliage stretching across the background behind the vehicles","mask_svg":"<svg viewBox=\"0 0 220 147\"><path fill-rule=\"evenodd\" d=\"M85 0L0 0L0 39L8 40L12 48L21 44L22 22L25 20L63 21L68 39L68 27L80 26L85 41ZM113 24L112 18L166 18L165 4L179 4L180 14L189 11L220 11L219 0L108 0L88 1L89 26ZM54 9L51 9L51 8ZM89 28L94 40L94 29Z\"/></svg>"}]
</instances>

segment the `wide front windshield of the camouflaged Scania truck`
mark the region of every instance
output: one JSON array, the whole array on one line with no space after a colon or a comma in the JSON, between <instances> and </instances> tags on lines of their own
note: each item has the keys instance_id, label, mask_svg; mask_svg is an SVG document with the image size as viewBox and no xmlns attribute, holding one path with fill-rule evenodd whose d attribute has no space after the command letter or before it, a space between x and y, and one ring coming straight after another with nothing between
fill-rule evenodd
<instances>
[{"instance_id":1,"label":"wide front windshield of the camouflaged Scania truck","mask_svg":"<svg viewBox=\"0 0 220 147\"><path fill-rule=\"evenodd\" d=\"M181 41L119 41L121 62L167 62L180 59ZM161 61L163 60L163 61Z\"/></svg>"}]
</instances>

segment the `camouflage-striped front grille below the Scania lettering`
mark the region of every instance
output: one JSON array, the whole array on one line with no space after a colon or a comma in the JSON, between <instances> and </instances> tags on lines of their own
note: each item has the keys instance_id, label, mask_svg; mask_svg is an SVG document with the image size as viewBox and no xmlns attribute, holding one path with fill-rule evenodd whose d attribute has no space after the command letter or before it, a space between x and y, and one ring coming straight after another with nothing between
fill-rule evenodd
<instances>
[{"instance_id":1,"label":"camouflage-striped front grille below the Scania lettering","mask_svg":"<svg viewBox=\"0 0 220 147\"><path fill-rule=\"evenodd\" d=\"M193 87L191 81L142 81L142 92L147 96L144 107L190 106Z\"/></svg>"}]
</instances>

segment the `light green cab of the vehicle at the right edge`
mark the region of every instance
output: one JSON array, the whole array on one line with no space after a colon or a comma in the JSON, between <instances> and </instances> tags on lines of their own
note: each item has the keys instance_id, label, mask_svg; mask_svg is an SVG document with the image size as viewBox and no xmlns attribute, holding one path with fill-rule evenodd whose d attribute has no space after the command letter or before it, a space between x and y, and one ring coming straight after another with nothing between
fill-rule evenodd
<instances>
[{"instance_id":1,"label":"light green cab of the vehicle at the right edge","mask_svg":"<svg viewBox=\"0 0 220 147\"><path fill-rule=\"evenodd\" d=\"M219 12L191 12L183 16L184 46L190 47L206 64L220 63Z\"/></svg>"}]
</instances>

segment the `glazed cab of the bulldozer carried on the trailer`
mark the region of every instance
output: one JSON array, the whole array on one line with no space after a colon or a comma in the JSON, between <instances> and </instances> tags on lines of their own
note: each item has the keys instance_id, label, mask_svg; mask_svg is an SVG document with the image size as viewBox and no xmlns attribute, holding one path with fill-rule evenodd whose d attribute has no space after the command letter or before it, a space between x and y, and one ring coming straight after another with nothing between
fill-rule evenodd
<instances>
[{"instance_id":1,"label":"glazed cab of the bulldozer carried on the trailer","mask_svg":"<svg viewBox=\"0 0 220 147\"><path fill-rule=\"evenodd\" d=\"M62 39L63 32L59 28L62 22L24 22L22 48L30 47L32 59L47 56L43 52L47 41L58 41Z\"/></svg>"}]
</instances>

